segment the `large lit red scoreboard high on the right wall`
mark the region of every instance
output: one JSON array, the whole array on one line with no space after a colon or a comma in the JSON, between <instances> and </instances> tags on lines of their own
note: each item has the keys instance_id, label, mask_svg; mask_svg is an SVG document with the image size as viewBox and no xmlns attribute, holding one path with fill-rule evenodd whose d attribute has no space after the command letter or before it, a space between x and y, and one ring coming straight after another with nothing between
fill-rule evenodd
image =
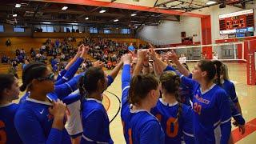
<instances>
[{"instance_id":1,"label":"large lit red scoreboard high on the right wall","mask_svg":"<svg viewBox=\"0 0 256 144\"><path fill-rule=\"evenodd\" d=\"M242 10L218 17L220 34L233 34L236 37L253 36L254 10Z\"/></svg>"}]
</instances>

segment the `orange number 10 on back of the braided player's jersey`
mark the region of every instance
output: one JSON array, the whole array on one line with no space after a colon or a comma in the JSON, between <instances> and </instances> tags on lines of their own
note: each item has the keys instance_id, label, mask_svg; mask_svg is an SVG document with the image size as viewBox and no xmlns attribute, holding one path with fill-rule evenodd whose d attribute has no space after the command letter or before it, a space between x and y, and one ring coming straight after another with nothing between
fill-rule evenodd
<instances>
[{"instance_id":1,"label":"orange number 10 on back of the braided player's jersey","mask_svg":"<svg viewBox=\"0 0 256 144\"><path fill-rule=\"evenodd\" d=\"M156 114L155 116L158 118L158 121L161 122L162 115L161 114ZM171 130L173 124L173 130ZM168 118L166 121L166 135L170 138L176 137L178 134L178 121L176 121L176 118Z\"/></svg>"}]
</instances>

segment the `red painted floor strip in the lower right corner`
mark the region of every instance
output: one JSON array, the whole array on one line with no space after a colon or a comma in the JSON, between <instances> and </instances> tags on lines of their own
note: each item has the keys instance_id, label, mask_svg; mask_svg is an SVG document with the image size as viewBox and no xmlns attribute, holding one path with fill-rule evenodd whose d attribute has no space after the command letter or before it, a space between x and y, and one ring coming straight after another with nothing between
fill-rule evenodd
<instances>
[{"instance_id":1,"label":"red painted floor strip in the lower right corner","mask_svg":"<svg viewBox=\"0 0 256 144\"><path fill-rule=\"evenodd\" d=\"M254 118L250 122L246 122L246 133L245 134L241 134L239 132L238 128L233 130L232 131L233 140L234 140L234 142L238 142L242 138L246 138L246 136L248 136L249 134L252 134L254 131L256 131L256 118Z\"/></svg>"}]
</instances>

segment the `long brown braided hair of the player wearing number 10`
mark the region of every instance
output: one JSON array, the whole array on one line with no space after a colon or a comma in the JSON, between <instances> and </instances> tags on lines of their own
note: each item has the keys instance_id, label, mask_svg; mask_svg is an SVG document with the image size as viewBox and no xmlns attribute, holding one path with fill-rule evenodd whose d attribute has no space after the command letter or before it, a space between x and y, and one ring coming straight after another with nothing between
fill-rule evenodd
<instances>
[{"instance_id":1,"label":"long brown braided hair of the player wearing number 10","mask_svg":"<svg viewBox=\"0 0 256 144\"><path fill-rule=\"evenodd\" d=\"M166 90L168 94L174 94L176 100L178 101L178 113L177 119L175 122L178 122L178 118L182 115L182 103L181 98L179 96L179 86L181 83L181 79L174 71L166 71L160 76L160 82L162 85L162 89Z\"/></svg>"}]
</instances>

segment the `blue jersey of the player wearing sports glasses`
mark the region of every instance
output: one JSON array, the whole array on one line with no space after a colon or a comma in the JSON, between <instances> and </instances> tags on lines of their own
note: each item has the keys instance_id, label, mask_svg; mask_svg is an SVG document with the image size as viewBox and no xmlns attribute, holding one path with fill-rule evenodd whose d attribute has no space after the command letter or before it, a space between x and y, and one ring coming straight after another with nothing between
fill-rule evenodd
<instances>
[{"instance_id":1,"label":"blue jersey of the player wearing sports glasses","mask_svg":"<svg viewBox=\"0 0 256 144\"><path fill-rule=\"evenodd\" d=\"M22 142L34 143L67 143L70 144L70 136L66 129L52 128L54 117L49 113L50 102L41 102L27 98L19 107L14 126L22 138Z\"/></svg>"}]
</instances>

